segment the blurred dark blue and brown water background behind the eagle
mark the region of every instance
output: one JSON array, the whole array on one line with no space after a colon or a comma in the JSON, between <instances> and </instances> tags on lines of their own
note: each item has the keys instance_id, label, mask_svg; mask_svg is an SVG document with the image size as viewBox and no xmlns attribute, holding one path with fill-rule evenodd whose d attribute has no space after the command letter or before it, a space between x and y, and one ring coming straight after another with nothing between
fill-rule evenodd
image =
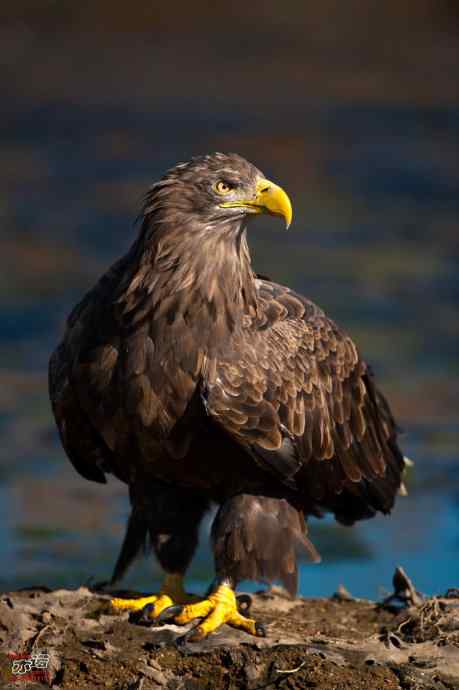
<instances>
[{"instance_id":1,"label":"blurred dark blue and brown water background behind the eagle","mask_svg":"<svg viewBox=\"0 0 459 690\"><path fill-rule=\"evenodd\" d=\"M213 150L288 190L294 224L253 225L255 267L354 336L416 461L391 518L311 523L323 562L302 564L301 592L377 597L396 565L426 593L459 584L457 8L2 3L0 589L111 574L126 489L67 461L47 361L70 308L133 241L148 185ZM211 576L203 538L190 587ZM126 585L157 579L143 562Z\"/></svg>"}]
</instances>

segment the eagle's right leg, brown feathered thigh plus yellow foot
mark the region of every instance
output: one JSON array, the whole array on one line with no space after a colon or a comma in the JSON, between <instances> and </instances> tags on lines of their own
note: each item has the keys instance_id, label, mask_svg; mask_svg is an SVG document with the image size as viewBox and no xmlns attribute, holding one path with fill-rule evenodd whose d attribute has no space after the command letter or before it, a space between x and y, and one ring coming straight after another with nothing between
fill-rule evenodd
<instances>
[{"instance_id":1,"label":"eagle's right leg, brown feathered thigh plus yellow foot","mask_svg":"<svg viewBox=\"0 0 459 690\"><path fill-rule=\"evenodd\" d=\"M164 617L174 614L179 624L204 618L186 636L193 642L207 637L223 623L264 636L260 623L238 611L234 589L240 580L280 579L295 594L298 549L305 547L314 560L319 559L306 537L302 514L285 499L241 494L221 506L212 538L217 579L211 593L197 604L164 611Z\"/></svg>"}]
</instances>

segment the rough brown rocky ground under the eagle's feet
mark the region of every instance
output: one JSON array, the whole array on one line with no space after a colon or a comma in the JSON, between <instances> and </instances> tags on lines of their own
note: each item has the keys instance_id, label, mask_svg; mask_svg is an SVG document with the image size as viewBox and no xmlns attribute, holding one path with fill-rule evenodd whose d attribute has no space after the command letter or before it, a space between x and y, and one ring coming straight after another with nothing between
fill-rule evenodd
<instances>
[{"instance_id":1,"label":"rough brown rocky ground under the eagle's feet","mask_svg":"<svg viewBox=\"0 0 459 690\"><path fill-rule=\"evenodd\" d=\"M49 654L48 685L59 690L458 689L459 590L424 599L403 571L394 590L379 604L345 590L294 601L257 594L252 614L266 638L225 626L184 648L175 644L183 628L135 625L104 592L9 592L0 597L0 687L26 684L11 682L11 653L24 651Z\"/></svg>"}]
</instances>

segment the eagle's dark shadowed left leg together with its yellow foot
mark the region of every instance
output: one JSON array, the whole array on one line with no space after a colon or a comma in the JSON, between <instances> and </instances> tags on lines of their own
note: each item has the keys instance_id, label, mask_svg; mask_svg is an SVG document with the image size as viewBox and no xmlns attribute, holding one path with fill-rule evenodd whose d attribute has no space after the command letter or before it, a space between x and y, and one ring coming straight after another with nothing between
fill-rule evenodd
<instances>
[{"instance_id":1,"label":"eagle's dark shadowed left leg together with its yellow foot","mask_svg":"<svg viewBox=\"0 0 459 690\"><path fill-rule=\"evenodd\" d=\"M209 507L201 494L163 484L142 482L131 487L132 513L112 577L119 580L140 551L152 547L165 577L158 594L112 599L117 609L140 611L152 620L164 609L189 604L198 597L183 588L183 577L198 542L201 519Z\"/></svg>"}]
</instances>

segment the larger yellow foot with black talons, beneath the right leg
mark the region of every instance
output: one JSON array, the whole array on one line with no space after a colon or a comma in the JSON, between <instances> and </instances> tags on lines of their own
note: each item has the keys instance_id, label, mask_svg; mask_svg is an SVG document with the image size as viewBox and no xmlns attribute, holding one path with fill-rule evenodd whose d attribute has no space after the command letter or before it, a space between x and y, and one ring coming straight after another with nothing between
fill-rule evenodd
<instances>
[{"instance_id":1,"label":"larger yellow foot with black talons, beneath the right leg","mask_svg":"<svg viewBox=\"0 0 459 690\"><path fill-rule=\"evenodd\" d=\"M164 618L167 613L167 611L164 611ZM253 618L246 618L239 613L236 595L231 587L225 584L220 585L207 599L197 604L182 607L174 606L169 613L174 614L174 622L179 625L185 625L196 618L204 618L202 623L185 636L185 640L189 642L198 642L204 639L210 633L218 630L223 623L228 623L228 625L234 628L245 630L257 637L266 636L263 625L257 623Z\"/></svg>"}]
</instances>

